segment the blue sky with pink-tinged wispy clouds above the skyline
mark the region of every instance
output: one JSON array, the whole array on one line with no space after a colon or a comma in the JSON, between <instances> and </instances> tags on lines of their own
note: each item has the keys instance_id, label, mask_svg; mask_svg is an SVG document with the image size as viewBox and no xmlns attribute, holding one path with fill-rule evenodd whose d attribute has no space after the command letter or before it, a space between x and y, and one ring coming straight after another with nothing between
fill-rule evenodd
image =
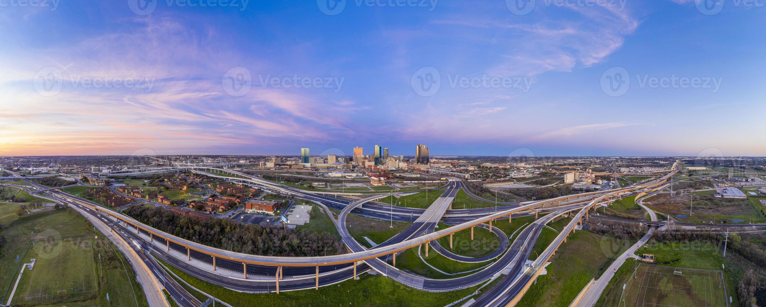
<instances>
[{"instance_id":1,"label":"blue sky with pink-tinged wispy clouds above the skyline","mask_svg":"<svg viewBox=\"0 0 766 307\"><path fill-rule=\"evenodd\" d=\"M766 155L766 0L0 0L0 155Z\"/></svg>"}]
</instances>

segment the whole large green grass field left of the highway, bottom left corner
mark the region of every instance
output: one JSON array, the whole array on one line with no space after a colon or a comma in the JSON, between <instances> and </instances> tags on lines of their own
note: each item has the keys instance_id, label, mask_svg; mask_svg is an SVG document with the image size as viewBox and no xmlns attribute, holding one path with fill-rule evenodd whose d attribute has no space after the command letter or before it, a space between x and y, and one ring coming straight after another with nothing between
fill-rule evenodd
<instances>
[{"instance_id":1,"label":"whole large green grass field left of the highway, bottom left corner","mask_svg":"<svg viewBox=\"0 0 766 307\"><path fill-rule=\"evenodd\" d=\"M34 269L22 275L13 305L107 305L106 292L112 305L148 305L123 254L77 211L62 208L21 217L5 214L15 211L15 206L18 204L0 204L0 224L4 226L0 234L8 240L0 250L0 263L8 264L0 266L4 302L19 265L34 258ZM16 261L17 255L23 262ZM58 296L60 290L66 290L67 296Z\"/></svg>"}]
</instances>

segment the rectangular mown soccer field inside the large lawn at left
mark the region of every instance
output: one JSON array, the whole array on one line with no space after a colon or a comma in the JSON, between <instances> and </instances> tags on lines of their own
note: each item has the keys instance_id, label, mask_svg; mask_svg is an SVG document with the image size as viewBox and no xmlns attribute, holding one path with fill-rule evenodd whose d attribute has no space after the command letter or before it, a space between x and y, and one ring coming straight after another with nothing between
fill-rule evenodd
<instances>
[{"instance_id":1,"label":"rectangular mown soccer field inside the large lawn at left","mask_svg":"<svg viewBox=\"0 0 766 307\"><path fill-rule=\"evenodd\" d=\"M98 263L93 240L74 238L35 243L34 268L28 274L26 302L90 299L98 294Z\"/></svg>"}]
</instances>

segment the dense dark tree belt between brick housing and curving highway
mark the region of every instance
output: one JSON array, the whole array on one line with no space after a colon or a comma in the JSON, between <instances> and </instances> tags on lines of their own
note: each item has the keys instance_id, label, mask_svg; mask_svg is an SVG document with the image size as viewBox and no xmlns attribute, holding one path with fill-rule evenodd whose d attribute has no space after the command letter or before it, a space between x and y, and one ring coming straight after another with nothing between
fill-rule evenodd
<instances>
[{"instance_id":1,"label":"dense dark tree belt between brick housing and curving highway","mask_svg":"<svg viewBox=\"0 0 766 307\"><path fill-rule=\"evenodd\" d=\"M242 224L176 214L160 207L128 207L127 214L158 230L209 247L263 256L324 256L345 253L339 237L322 232L294 231L266 223Z\"/></svg>"}]
</instances>

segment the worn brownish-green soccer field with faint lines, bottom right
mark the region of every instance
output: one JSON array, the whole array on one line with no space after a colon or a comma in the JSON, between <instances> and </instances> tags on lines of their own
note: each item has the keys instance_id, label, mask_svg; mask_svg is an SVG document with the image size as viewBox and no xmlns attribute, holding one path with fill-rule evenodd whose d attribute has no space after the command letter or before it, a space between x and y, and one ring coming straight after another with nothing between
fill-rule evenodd
<instances>
[{"instance_id":1,"label":"worn brownish-green soccer field with faint lines, bottom right","mask_svg":"<svg viewBox=\"0 0 766 307\"><path fill-rule=\"evenodd\" d=\"M641 263L628 281L620 305L725 307L722 272Z\"/></svg>"}]
</instances>

